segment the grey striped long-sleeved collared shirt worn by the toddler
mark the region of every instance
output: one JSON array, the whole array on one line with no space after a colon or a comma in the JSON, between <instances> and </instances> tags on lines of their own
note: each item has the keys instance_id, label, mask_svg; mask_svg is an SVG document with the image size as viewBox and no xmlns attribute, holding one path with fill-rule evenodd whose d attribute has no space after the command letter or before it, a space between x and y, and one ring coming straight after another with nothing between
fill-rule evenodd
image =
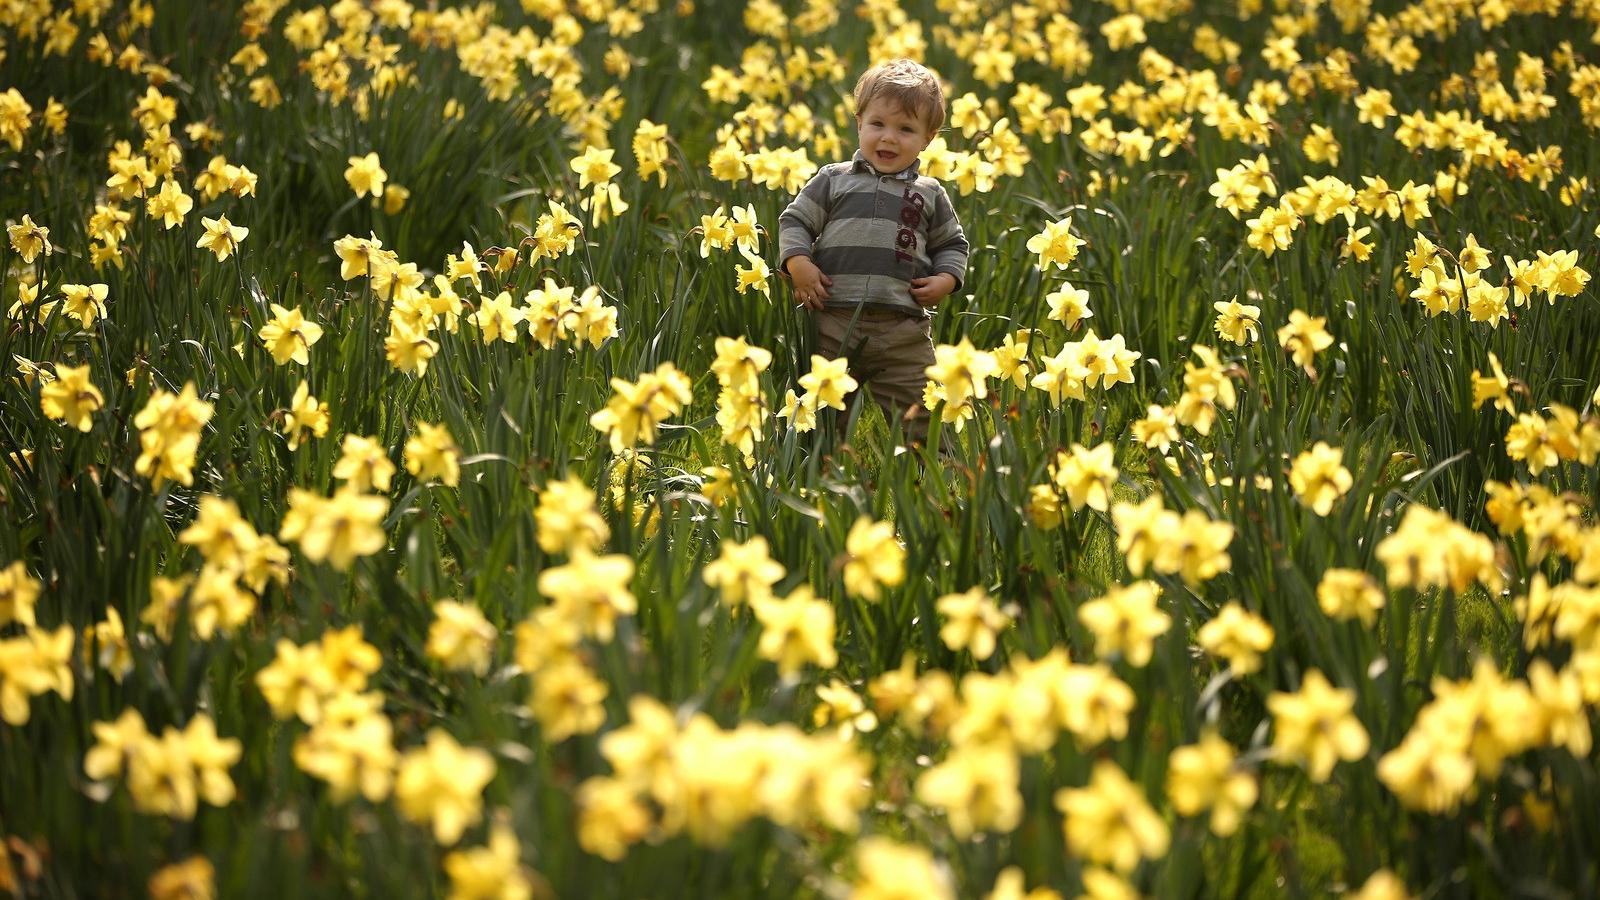
<instances>
[{"instance_id":1,"label":"grey striped long-sleeved collared shirt worn by the toddler","mask_svg":"<svg viewBox=\"0 0 1600 900\"><path fill-rule=\"evenodd\" d=\"M944 186L917 168L882 175L861 151L824 165L778 216L779 271L810 256L834 282L827 306L931 315L910 280L947 272L960 288L968 245Z\"/></svg>"}]
</instances>

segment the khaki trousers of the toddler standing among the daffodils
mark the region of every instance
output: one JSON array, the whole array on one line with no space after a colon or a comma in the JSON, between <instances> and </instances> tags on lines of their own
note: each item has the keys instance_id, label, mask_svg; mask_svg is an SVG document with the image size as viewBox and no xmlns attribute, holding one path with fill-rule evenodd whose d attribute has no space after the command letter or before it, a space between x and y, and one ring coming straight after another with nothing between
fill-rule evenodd
<instances>
[{"instance_id":1,"label":"khaki trousers of the toddler standing among the daffodils","mask_svg":"<svg viewBox=\"0 0 1600 900\"><path fill-rule=\"evenodd\" d=\"M878 309L822 309L816 319L818 352L845 357L859 389L870 389L883 420L898 421L907 444L928 440L922 389L933 365L933 320ZM845 416L837 416L843 429Z\"/></svg>"}]
</instances>

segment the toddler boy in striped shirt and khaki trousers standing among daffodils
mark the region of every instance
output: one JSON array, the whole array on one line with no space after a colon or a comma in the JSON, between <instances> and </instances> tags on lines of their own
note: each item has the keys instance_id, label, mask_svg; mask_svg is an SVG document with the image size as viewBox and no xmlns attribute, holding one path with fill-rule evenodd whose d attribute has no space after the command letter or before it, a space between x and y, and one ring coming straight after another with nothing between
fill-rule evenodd
<instances>
[{"instance_id":1,"label":"toddler boy in striped shirt and khaki trousers standing among daffodils","mask_svg":"<svg viewBox=\"0 0 1600 900\"><path fill-rule=\"evenodd\" d=\"M818 351L850 360L904 436L928 437L931 307L962 287L966 235L917 157L944 125L939 78L910 59L856 82L861 149L824 165L778 218L779 271L816 317Z\"/></svg>"}]
</instances>

